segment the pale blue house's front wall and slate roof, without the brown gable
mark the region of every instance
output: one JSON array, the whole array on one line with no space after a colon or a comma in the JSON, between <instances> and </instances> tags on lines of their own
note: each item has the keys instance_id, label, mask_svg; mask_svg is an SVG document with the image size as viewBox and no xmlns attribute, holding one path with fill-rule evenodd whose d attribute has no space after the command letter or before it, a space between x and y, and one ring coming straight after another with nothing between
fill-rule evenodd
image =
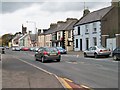
<instances>
[{"instance_id":1,"label":"pale blue house's front wall and slate roof, without the brown gable","mask_svg":"<svg viewBox=\"0 0 120 90\"><path fill-rule=\"evenodd\" d=\"M111 7L103 8L94 12L87 9L83 16L74 25L74 51L84 51L91 46L101 45L101 19Z\"/></svg>"}]
</instances>

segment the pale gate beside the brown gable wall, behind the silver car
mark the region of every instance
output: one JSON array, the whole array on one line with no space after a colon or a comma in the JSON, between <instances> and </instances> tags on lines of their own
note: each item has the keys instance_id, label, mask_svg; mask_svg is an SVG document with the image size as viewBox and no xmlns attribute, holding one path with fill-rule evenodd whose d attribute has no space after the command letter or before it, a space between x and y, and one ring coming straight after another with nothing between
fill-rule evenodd
<instances>
[{"instance_id":1,"label":"pale gate beside the brown gable wall, behind the silver car","mask_svg":"<svg viewBox=\"0 0 120 90\"><path fill-rule=\"evenodd\" d=\"M116 48L116 38L108 38L106 42L107 48L114 50Z\"/></svg>"}]
</instances>

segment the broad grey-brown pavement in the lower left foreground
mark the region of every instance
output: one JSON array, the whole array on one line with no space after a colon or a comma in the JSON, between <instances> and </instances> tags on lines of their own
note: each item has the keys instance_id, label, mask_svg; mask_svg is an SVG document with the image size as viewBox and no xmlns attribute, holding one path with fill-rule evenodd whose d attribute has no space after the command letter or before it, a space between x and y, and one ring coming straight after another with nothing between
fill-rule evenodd
<instances>
[{"instance_id":1,"label":"broad grey-brown pavement in the lower left foreground","mask_svg":"<svg viewBox=\"0 0 120 90\"><path fill-rule=\"evenodd\" d=\"M7 88L59 88L59 80L38 68L16 60L10 55L2 58L2 90Z\"/></svg>"}]
</instances>

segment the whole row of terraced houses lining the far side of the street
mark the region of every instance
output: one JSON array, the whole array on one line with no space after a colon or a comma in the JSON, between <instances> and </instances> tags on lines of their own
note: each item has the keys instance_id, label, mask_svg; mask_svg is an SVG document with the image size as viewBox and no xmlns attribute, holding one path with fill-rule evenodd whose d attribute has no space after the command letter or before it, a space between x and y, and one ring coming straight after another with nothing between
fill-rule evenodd
<instances>
[{"instance_id":1,"label":"whole row of terraced houses lining the far side of the street","mask_svg":"<svg viewBox=\"0 0 120 90\"><path fill-rule=\"evenodd\" d=\"M83 51L102 45L113 50L120 46L120 2L94 12L85 9L79 20L67 18L52 23L49 29L39 29L37 34L26 31L22 26L22 34L12 40L13 46L61 46L67 51Z\"/></svg>"}]
</instances>

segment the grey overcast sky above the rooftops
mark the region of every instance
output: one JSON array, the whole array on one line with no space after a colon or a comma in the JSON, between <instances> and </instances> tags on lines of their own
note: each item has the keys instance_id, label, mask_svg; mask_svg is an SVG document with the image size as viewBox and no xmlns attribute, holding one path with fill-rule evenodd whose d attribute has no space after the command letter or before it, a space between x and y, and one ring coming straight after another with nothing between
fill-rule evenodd
<instances>
[{"instance_id":1,"label":"grey overcast sky above the rooftops","mask_svg":"<svg viewBox=\"0 0 120 90\"><path fill-rule=\"evenodd\" d=\"M80 19L84 2L91 12L111 5L111 0L1 0L0 36L21 31L22 24L33 32L35 23L38 29L47 29L66 18Z\"/></svg>"}]
</instances>

